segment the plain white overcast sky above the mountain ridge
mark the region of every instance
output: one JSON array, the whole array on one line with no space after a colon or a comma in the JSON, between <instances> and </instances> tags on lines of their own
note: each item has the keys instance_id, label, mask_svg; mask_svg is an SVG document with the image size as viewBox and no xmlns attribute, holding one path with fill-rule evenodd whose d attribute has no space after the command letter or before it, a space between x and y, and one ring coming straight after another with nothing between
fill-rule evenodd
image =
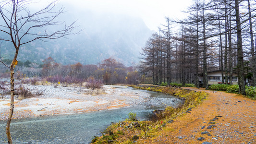
<instances>
[{"instance_id":1,"label":"plain white overcast sky above the mountain ridge","mask_svg":"<svg viewBox=\"0 0 256 144\"><path fill-rule=\"evenodd\" d=\"M192 0L60 0L79 9L91 9L97 12L118 12L141 17L149 29L158 31L158 26L165 23L165 16L184 17L181 12L192 4ZM70 11L70 10L68 10Z\"/></svg>"}]
</instances>

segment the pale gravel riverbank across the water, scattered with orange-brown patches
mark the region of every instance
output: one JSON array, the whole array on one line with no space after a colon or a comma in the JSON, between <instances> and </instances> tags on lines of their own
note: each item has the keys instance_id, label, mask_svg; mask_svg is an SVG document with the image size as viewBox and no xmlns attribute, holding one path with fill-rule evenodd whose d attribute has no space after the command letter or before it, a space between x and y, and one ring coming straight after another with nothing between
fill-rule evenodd
<instances>
[{"instance_id":1,"label":"pale gravel riverbank across the water, scattered with orange-brown patches","mask_svg":"<svg viewBox=\"0 0 256 144\"><path fill-rule=\"evenodd\" d=\"M102 89L94 91L75 85L23 86L32 90L37 89L42 95L23 100L14 98L13 119L123 108L143 103L149 97L145 92L125 88L127 86L104 85ZM0 120L7 120L9 108L10 96L4 96L0 99Z\"/></svg>"}]
</instances>

